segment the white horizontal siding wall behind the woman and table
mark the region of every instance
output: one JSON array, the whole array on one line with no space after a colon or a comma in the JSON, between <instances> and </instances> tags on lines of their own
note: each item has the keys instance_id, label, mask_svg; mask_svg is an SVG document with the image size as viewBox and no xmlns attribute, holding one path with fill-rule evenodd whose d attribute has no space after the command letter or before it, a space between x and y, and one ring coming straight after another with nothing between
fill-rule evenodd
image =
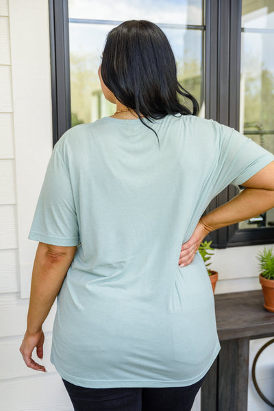
<instances>
[{"instance_id":1,"label":"white horizontal siding wall behind the woman and table","mask_svg":"<svg viewBox=\"0 0 274 411\"><path fill-rule=\"evenodd\" d=\"M47 0L0 0L0 411L73 409L49 361L55 307L44 327L48 373L27 368L18 352L37 246L27 234L52 150L51 129ZM260 248L216 250L216 293L260 288ZM251 360L263 342L252 342ZM273 384L269 369L258 364L262 389ZM193 411L199 401L198 395ZM249 411L267 409L250 384Z\"/></svg>"}]
</instances>

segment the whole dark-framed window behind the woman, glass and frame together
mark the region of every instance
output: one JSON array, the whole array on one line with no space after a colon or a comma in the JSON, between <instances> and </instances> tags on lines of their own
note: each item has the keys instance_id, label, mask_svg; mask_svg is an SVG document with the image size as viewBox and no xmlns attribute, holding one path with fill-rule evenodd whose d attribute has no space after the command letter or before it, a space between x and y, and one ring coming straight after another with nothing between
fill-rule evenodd
<instances>
[{"instance_id":1,"label":"whole dark-framed window behind the woman, glass and frame together","mask_svg":"<svg viewBox=\"0 0 274 411\"><path fill-rule=\"evenodd\" d=\"M271 0L137 0L124 6L123 0L119 5L49 0L53 143L75 124L114 113L97 77L105 36L121 21L147 19L169 38L179 81L197 98L199 115L234 127L273 151L273 7ZM253 42L258 58L252 74ZM227 187L205 213L236 193L236 187ZM257 220L214 231L209 239L215 248L272 243L272 222L274 212L268 211Z\"/></svg>"}]
</instances>

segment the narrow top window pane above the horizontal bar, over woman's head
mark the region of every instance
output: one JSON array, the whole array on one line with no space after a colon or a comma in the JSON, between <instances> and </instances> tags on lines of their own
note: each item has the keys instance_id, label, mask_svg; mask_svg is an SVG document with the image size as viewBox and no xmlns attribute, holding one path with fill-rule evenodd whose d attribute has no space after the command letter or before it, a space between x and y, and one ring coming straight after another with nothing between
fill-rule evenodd
<instances>
[{"instance_id":1,"label":"narrow top window pane above the horizontal bar, over woman's head","mask_svg":"<svg viewBox=\"0 0 274 411\"><path fill-rule=\"evenodd\" d=\"M69 17L95 20L149 20L203 24L202 0L69 0Z\"/></svg>"}]
</instances>

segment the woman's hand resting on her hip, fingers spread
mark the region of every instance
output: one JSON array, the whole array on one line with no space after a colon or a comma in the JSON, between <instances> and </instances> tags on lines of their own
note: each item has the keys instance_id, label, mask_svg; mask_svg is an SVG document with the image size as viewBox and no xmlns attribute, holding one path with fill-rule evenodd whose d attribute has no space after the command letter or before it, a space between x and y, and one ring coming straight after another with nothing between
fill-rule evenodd
<instances>
[{"instance_id":1,"label":"woman's hand resting on her hip, fingers spread","mask_svg":"<svg viewBox=\"0 0 274 411\"><path fill-rule=\"evenodd\" d=\"M195 230L193 231L190 239L182 245L181 253L179 255L179 266L185 267L192 263L195 254L197 253L199 246L203 239L210 233L210 229L206 228L200 221L198 222Z\"/></svg>"}]
</instances>

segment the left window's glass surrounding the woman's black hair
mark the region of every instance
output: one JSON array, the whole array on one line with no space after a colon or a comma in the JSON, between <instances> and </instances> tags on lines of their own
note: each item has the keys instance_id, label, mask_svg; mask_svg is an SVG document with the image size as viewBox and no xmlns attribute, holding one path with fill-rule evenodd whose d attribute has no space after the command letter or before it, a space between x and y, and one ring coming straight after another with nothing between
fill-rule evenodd
<instances>
[{"instance_id":1,"label":"left window's glass surrounding the woman's black hair","mask_svg":"<svg viewBox=\"0 0 274 411\"><path fill-rule=\"evenodd\" d=\"M147 1L147 2L146 2ZM146 0L145 4L150 4L155 8L155 2ZM99 1L72 1L69 0L69 47L70 47L70 69L71 69L71 117L72 126L81 123L90 123L104 116L112 115L116 106L107 102L101 92L100 82L97 75L100 65L100 56L105 45L105 38L110 30L118 23L108 21L110 16L119 21L123 20L123 14L115 15L116 3L110 3L106 7L105 2ZM199 10L201 14L201 0L178 1L182 10ZM138 9L139 5L140 9ZM157 3L159 8L159 3ZM170 3L162 0L164 10ZM200 6L199 6L200 5ZM112 10L112 12L110 12ZM122 10L122 9L120 9ZM132 9L127 9L127 12ZM140 19L144 10L140 3L134 3L134 12L128 14L126 19ZM150 10L150 9L148 9ZM174 12L174 10L173 10ZM204 117L203 105L203 27L187 28L178 21L184 21L184 13L179 20L176 13L166 15L166 20L162 21L160 27L169 38L177 61L178 80L182 86L195 96L201 106L200 116ZM197 13L196 13L197 14ZM186 14L188 16L188 14ZM77 18L75 17L77 16ZM85 16L84 20L77 20ZM92 21L87 20L92 16ZM95 21L95 16L101 18ZM194 21L193 13L192 21ZM151 16L152 17L152 16ZM154 16L155 17L155 16ZM164 15L162 15L164 19ZM71 20L76 19L76 20ZM146 19L149 19L146 10ZM153 19L151 19L153 20ZM155 20L155 19L154 19ZM186 19L188 21L188 19ZM192 104L190 103L190 108Z\"/></svg>"}]
</instances>

